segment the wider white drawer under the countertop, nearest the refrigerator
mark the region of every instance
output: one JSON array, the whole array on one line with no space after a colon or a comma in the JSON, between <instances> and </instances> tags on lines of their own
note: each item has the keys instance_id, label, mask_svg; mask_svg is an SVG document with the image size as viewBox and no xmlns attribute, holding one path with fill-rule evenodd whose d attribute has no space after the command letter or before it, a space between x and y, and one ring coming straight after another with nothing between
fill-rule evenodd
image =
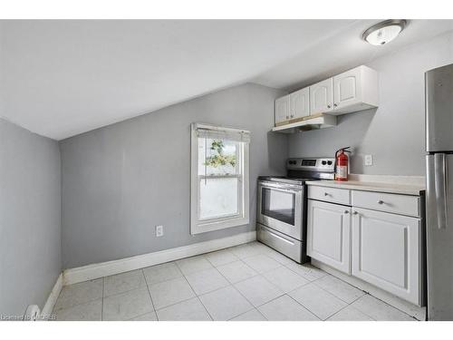
<instances>
[{"instance_id":1,"label":"wider white drawer under the countertop, nearest the refrigerator","mask_svg":"<svg viewBox=\"0 0 453 340\"><path fill-rule=\"evenodd\" d=\"M420 216L419 196L388 194L383 192L352 190L352 206L393 212L395 214Z\"/></svg>"}]
</instances>

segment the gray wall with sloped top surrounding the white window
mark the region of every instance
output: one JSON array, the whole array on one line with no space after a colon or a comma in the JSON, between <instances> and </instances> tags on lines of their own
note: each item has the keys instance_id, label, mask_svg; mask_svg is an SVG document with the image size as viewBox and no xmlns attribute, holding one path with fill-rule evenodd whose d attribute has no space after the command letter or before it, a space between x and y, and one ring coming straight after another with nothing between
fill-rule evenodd
<instances>
[{"instance_id":1,"label":"gray wall with sloped top surrounding the white window","mask_svg":"<svg viewBox=\"0 0 453 340\"><path fill-rule=\"evenodd\" d=\"M279 95L247 83L61 141L63 267L254 230L256 177L284 174L287 139L268 132ZM189 235L194 121L251 131L250 225Z\"/></svg>"}]
</instances>

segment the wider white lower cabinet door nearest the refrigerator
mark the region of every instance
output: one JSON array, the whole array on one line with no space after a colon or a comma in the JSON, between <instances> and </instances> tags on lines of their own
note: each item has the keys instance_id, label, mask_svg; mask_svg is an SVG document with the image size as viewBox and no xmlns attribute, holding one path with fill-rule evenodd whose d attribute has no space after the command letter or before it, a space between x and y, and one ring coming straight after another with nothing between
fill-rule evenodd
<instances>
[{"instance_id":1,"label":"wider white lower cabinet door nearest the refrigerator","mask_svg":"<svg viewBox=\"0 0 453 340\"><path fill-rule=\"evenodd\" d=\"M420 219L352 210L352 275L419 305Z\"/></svg>"}]
</instances>

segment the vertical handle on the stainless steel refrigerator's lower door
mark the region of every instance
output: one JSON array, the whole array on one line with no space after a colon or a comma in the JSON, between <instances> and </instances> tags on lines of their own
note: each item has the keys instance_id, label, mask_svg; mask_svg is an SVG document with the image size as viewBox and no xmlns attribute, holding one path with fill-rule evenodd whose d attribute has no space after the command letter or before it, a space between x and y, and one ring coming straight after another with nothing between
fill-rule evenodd
<instances>
[{"instance_id":1,"label":"vertical handle on the stainless steel refrigerator's lower door","mask_svg":"<svg viewBox=\"0 0 453 340\"><path fill-rule=\"evenodd\" d=\"M447 228L447 160L445 153L434 155L434 189L436 196L436 209L438 211L438 228Z\"/></svg>"}]
</instances>

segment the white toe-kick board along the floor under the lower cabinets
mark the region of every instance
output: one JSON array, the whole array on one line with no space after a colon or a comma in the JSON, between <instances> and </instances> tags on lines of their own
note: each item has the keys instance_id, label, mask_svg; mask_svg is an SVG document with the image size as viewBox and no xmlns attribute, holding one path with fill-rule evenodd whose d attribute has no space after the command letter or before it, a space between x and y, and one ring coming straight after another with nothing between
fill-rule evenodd
<instances>
[{"instance_id":1,"label":"white toe-kick board along the floor under the lower cabinets","mask_svg":"<svg viewBox=\"0 0 453 340\"><path fill-rule=\"evenodd\" d=\"M421 321L426 320L426 307L424 306L421 307L412 305L410 302L405 301L398 296L391 295L390 293L386 292L385 290L382 290L381 288L374 287L371 284L362 281L360 278L346 275L336 270L335 268L324 265L322 262L319 262L313 258L312 265L314 267L319 267L320 269L323 269L323 271L332 274L334 277L342 279L343 281L349 283L354 287L358 287L359 289L367 293L370 293L371 296L379 298L380 300L388 303L390 306L394 306L395 308L400 309L404 313L409 314L410 316L413 316L418 320Z\"/></svg>"}]
</instances>

